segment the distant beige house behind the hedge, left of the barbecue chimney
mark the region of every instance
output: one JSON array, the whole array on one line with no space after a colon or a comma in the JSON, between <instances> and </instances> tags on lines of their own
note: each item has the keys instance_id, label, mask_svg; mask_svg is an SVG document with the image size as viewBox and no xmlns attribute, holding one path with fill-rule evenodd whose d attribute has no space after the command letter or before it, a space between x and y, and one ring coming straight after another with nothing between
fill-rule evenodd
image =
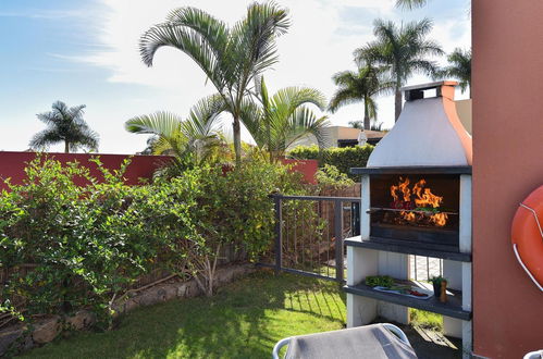
<instances>
[{"instance_id":1,"label":"distant beige house behind the hedge, left of the barbecue chimney","mask_svg":"<svg viewBox=\"0 0 543 359\"><path fill-rule=\"evenodd\" d=\"M330 141L326 147L353 147L357 145L377 145L386 134L380 131L361 131L358 128L346 126L330 126ZM308 135L294 143L289 149L296 146L317 145L317 138L313 135Z\"/></svg>"}]
</instances>

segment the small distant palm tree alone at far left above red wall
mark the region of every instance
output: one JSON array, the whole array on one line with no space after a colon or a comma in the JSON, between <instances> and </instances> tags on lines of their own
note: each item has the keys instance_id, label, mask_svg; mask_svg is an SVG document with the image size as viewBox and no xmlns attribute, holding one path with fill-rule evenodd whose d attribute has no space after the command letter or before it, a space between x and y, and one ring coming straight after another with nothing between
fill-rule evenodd
<instances>
[{"instance_id":1,"label":"small distant palm tree alone at far left above red wall","mask_svg":"<svg viewBox=\"0 0 543 359\"><path fill-rule=\"evenodd\" d=\"M47 150L50 145L64 143L64 152L77 149L98 150L99 136L90 129L83 120L85 104L69 108L64 102L57 101L52 111L37 114L47 128L34 135L30 148Z\"/></svg>"}]
</instances>

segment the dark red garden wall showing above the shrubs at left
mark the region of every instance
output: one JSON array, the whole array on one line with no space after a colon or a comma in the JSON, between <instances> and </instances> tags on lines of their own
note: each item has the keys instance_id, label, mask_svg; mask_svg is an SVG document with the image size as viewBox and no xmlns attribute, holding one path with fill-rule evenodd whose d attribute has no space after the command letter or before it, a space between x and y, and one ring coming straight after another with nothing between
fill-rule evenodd
<instances>
[{"instance_id":1,"label":"dark red garden wall showing above the shrubs at left","mask_svg":"<svg viewBox=\"0 0 543 359\"><path fill-rule=\"evenodd\" d=\"M121 163L129 157L128 154L87 154L87 153L47 153L62 163L78 161L82 165L90 169L90 173L97 178L101 178L95 163L88 160L92 157L100 157L100 161L107 169L118 170ZM25 178L24 169L26 163L36 158L35 152L4 152L0 151L0 178L11 178L11 183L21 184ZM133 156L132 162L126 169L124 177L126 184L137 185L139 178L151 178L152 173L162 163L171 161L169 156ZM0 189L7 188L3 181L0 182Z\"/></svg>"}]
</instances>

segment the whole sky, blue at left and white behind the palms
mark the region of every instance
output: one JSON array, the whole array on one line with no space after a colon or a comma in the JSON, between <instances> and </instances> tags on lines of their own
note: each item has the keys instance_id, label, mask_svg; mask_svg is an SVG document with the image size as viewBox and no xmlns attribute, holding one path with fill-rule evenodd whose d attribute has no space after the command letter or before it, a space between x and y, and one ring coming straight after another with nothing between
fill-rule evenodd
<instances>
[{"instance_id":1,"label":"whole sky, blue at left and white behind the palms","mask_svg":"<svg viewBox=\"0 0 543 359\"><path fill-rule=\"evenodd\" d=\"M394 0L277 0L289 10L292 26L277 39L280 62L264 73L270 92L309 86L329 99L333 74L356 70L353 51L373 39L374 18L397 23L430 17L429 36L446 52L471 46L469 2L431 0L403 11ZM215 92L201 70L183 52L161 48L152 67L139 57L138 40L175 8L200 8L235 23L246 0L0 0L0 150L22 151L44 129L36 117L61 100L86 104L85 120L100 136L101 153L135 153L147 135L124 129L135 115L171 111L185 117L200 98ZM445 64L445 58L435 59ZM416 75L408 85L428 82ZM458 91L457 98L467 94ZM394 124L392 96L378 100L379 121ZM332 125L362 120L362 103L329 113ZM231 124L224 119L224 128ZM250 140L246 132L244 139ZM61 151L62 145L51 151Z\"/></svg>"}]
</instances>

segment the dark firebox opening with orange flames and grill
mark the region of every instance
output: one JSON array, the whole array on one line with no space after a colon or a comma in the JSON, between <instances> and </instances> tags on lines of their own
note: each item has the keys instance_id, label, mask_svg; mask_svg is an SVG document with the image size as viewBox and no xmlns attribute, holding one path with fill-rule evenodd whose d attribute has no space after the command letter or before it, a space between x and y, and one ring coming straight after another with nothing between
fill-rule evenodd
<instances>
[{"instance_id":1,"label":"dark firebox opening with orange flames and grill","mask_svg":"<svg viewBox=\"0 0 543 359\"><path fill-rule=\"evenodd\" d=\"M373 238L458 247L458 175L386 174L370 181Z\"/></svg>"}]
</instances>

